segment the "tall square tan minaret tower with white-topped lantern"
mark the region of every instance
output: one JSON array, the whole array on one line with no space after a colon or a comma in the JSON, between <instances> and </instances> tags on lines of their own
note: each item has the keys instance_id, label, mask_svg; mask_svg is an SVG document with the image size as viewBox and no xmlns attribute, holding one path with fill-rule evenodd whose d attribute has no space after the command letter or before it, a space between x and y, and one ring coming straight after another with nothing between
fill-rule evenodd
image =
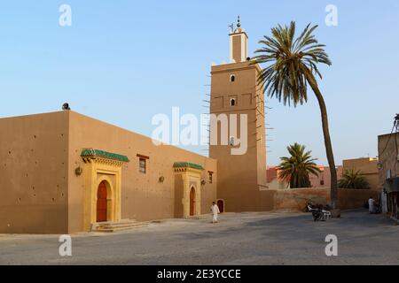
<instances>
[{"instance_id":1,"label":"tall square tan minaret tower with white-topped lantern","mask_svg":"<svg viewBox=\"0 0 399 283\"><path fill-rule=\"evenodd\" d=\"M209 145L209 156L218 161L217 197L224 200L227 211L270 210L270 200L265 201L262 194L267 184L264 95L257 84L261 68L246 58L248 37L239 20L229 36L231 63L211 68L210 113L217 117L227 115L229 121L237 115L238 124L240 116L246 115L247 131L245 137L239 136L242 125L237 133L231 133L229 126L229 144L223 144L222 123L218 123L216 130L211 126L211 136L217 131L218 139L216 145ZM237 148L231 141L239 140L246 140L246 151L231 154L231 149Z\"/></svg>"}]
</instances>

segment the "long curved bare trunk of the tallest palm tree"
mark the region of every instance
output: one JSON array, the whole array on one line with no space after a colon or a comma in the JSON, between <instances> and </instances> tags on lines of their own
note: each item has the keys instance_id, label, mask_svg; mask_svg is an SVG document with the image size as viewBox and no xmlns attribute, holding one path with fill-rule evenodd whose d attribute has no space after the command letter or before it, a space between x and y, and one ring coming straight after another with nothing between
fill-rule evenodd
<instances>
[{"instance_id":1,"label":"long curved bare trunk of the tallest palm tree","mask_svg":"<svg viewBox=\"0 0 399 283\"><path fill-rule=\"evenodd\" d=\"M318 89L317 81L313 74L307 73L306 79L309 82L310 87L313 89L318 101L318 105L320 106L322 125L323 125L323 134L325 136L325 151L327 154L328 165L330 166L330 174L331 174L331 206L332 209L338 209L338 185L337 185L337 170L335 168L334 156L332 154L332 144L330 138L330 131L328 128L328 116L327 116L327 107L325 106L325 99Z\"/></svg>"}]
</instances>

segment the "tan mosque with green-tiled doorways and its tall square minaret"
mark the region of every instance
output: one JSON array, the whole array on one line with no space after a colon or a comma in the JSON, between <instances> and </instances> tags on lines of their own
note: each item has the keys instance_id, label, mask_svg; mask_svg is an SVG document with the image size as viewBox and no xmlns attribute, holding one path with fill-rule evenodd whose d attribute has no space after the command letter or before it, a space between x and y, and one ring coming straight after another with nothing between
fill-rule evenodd
<instances>
[{"instance_id":1,"label":"tan mosque with green-tiled doorways and its tall square minaret","mask_svg":"<svg viewBox=\"0 0 399 283\"><path fill-rule=\"evenodd\" d=\"M210 113L246 114L245 154L231 155L234 143L211 144L209 157L156 146L70 110L0 119L0 233L199 218L212 202L221 211L272 210L261 69L246 56L240 24L229 36L230 63L211 67Z\"/></svg>"}]
</instances>

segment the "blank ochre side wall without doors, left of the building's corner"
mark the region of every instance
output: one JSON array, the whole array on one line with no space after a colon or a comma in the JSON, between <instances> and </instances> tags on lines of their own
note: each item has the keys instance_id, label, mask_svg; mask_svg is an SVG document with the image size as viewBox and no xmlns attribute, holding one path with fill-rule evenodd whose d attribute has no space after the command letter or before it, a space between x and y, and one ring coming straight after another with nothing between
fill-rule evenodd
<instances>
[{"instance_id":1,"label":"blank ochre side wall without doors, left of the building's corner","mask_svg":"<svg viewBox=\"0 0 399 283\"><path fill-rule=\"evenodd\" d=\"M67 233L67 112L0 119L0 233Z\"/></svg>"}]
</instances>

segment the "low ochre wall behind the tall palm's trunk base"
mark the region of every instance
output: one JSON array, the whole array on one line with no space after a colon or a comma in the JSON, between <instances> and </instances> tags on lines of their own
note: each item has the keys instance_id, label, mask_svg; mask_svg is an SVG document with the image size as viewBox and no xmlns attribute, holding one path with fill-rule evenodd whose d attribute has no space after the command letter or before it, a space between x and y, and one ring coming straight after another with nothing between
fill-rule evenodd
<instances>
[{"instance_id":1,"label":"low ochre wall behind the tall palm's trunk base","mask_svg":"<svg viewBox=\"0 0 399 283\"><path fill-rule=\"evenodd\" d=\"M341 210L362 208L369 197L378 199L379 193L371 189L347 189L338 190L339 207ZM275 190L275 210L303 210L307 203L330 203L330 188L294 188Z\"/></svg>"}]
</instances>

